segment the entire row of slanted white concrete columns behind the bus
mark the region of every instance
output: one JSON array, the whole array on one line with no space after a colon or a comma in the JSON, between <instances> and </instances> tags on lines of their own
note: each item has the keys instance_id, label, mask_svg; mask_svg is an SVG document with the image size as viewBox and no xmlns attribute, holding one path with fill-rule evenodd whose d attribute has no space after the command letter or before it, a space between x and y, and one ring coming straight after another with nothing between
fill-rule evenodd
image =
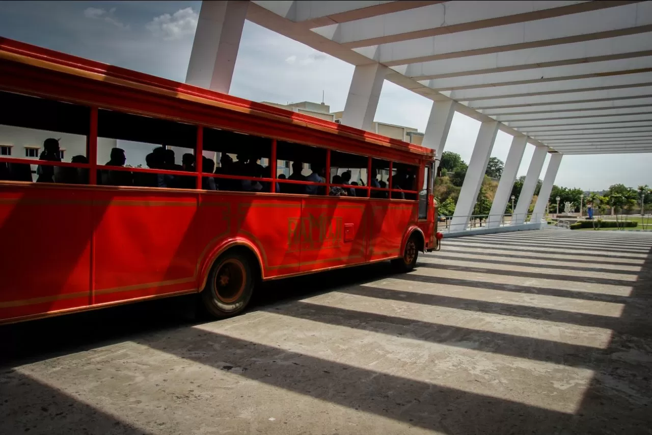
<instances>
[{"instance_id":1,"label":"entire row of slanted white concrete columns behind the bus","mask_svg":"<svg viewBox=\"0 0 652 435\"><path fill-rule=\"evenodd\" d=\"M244 0L202 2L188 63L186 83L222 93L229 92L248 4L249 2ZM383 82L388 72L389 69L379 63L355 67L342 114L343 124L367 131L372 130ZM432 104L430 109L422 145L436 150L436 168L439 166L439 159L441 159L448 138L456 104L452 100L437 101ZM494 148L498 125L497 121L487 121L483 122L480 127L466 178L452 217L451 231L466 229L467 220L475 207L482 180L484 180L484 172ZM516 136L512 140L492 204L491 216L488 220L489 227L497 227L501 223L500 215L505 212L505 207L510 199L516 172L520 167L526 144L526 136ZM526 180L519 195L516 210L514 210L515 216L512 218L514 223L525 221L547 152L548 148L539 146L532 156ZM544 214L560 162L561 154L554 153L535 205L534 213L537 219L541 219Z\"/></svg>"}]
</instances>

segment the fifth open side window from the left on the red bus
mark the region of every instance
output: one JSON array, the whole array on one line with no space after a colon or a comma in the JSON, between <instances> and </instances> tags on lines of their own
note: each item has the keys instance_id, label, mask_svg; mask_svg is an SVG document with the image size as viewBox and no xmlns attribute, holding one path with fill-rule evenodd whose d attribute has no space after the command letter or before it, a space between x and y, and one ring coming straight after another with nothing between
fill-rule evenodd
<instances>
[{"instance_id":1,"label":"fifth open side window from the left on the red bus","mask_svg":"<svg viewBox=\"0 0 652 435\"><path fill-rule=\"evenodd\" d=\"M331 183L340 184L341 187L332 187L330 195L342 196L341 193L344 193L344 196L348 197L366 198L368 196L368 163L369 159L364 155L332 151Z\"/></svg>"}]
</instances>

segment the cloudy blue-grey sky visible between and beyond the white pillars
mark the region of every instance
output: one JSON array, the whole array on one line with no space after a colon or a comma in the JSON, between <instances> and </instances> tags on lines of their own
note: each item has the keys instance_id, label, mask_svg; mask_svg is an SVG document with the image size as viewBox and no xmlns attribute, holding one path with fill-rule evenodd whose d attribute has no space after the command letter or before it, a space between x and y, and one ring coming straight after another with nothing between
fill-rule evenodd
<instances>
[{"instance_id":1,"label":"cloudy blue-grey sky visible between and beyond the white pillars","mask_svg":"<svg viewBox=\"0 0 652 435\"><path fill-rule=\"evenodd\" d=\"M183 82L201 1L0 1L0 37ZM343 110L353 66L245 22L231 95L253 101L324 101ZM376 121L423 132L432 102L385 81ZM445 150L469 161L479 121L456 113ZM492 157L507 158L512 137L499 132ZM534 146L527 145L518 175ZM541 171L543 178L548 160ZM555 184L603 190L652 185L652 153L566 155Z\"/></svg>"}]
</instances>

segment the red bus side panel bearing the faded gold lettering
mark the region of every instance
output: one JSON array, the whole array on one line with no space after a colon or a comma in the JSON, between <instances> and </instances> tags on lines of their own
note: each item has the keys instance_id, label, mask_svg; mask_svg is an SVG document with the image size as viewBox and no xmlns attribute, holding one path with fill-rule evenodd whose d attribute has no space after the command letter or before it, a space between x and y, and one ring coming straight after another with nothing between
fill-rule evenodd
<instances>
[{"instance_id":1,"label":"red bus side panel bearing the faded gold lettering","mask_svg":"<svg viewBox=\"0 0 652 435\"><path fill-rule=\"evenodd\" d=\"M292 245L301 249L301 272L363 263L367 225L366 199L315 197L304 199L301 221ZM352 240L344 240L344 225L352 225Z\"/></svg>"}]
</instances>

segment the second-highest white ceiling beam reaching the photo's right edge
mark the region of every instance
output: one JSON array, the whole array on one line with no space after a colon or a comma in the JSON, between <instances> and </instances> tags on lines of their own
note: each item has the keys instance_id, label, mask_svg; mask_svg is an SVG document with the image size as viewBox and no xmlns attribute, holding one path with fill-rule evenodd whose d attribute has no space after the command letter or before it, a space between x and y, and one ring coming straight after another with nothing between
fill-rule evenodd
<instances>
[{"instance_id":1,"label":"second-highest white ceiling beam reaching the photo's right edge","mask_svg":"<svg viewBox=\"0 0 652 435\"><path fill-rule=\"evenodd\" d=\"M652 33L614 37L608 44L602 39L555 46L527 48L477 56L410 63L393 67L417 80L522 71L564 65L587 64L615 59L650 56Z\"/></svg>"}]
</instances>

